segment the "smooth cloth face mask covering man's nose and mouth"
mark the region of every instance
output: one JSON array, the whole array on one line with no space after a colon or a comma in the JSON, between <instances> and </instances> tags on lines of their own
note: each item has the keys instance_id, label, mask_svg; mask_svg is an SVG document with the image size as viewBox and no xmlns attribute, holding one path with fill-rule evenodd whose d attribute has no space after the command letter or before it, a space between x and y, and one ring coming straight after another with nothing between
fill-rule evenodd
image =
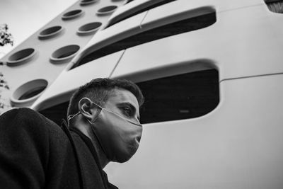
<instances>
[{"instance_id":1,"label":"smooth cloth face mask covering man's nose and mouth","mask_svg":"<svg viewBox=\"0 0 283 189\"><path fill-rule=\"evenodd\" d=\"M97 107L96 115L88 122L108 160L119 163L128 161L139 147L142 125L93 104Z\"/></svg>"}]
</instances>

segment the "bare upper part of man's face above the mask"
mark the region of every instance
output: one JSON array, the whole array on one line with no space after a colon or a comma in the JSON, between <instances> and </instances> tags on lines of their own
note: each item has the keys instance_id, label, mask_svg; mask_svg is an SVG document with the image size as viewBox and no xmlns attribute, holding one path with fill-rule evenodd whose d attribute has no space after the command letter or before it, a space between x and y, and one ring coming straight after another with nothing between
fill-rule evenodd
<instances>
[{"instance_id":1,"label":"bare upper part of man's face above the mask","mask_svg":"<svg viewBox=\"0 0 283 189\"><path fill-rule=\"evenodd\" d=\"M133 93L115 88L105 103L105 108L118 113L127 120L139 122L139 103Z\"/></svg>"}]
</instances>

